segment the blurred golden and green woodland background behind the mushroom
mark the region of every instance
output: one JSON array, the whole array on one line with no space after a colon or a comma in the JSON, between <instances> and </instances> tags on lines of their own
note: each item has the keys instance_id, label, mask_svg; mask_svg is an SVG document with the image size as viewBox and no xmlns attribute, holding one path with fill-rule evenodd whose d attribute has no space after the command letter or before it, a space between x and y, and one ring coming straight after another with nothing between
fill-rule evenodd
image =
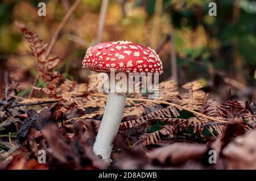
<instances>
[{"instance_id":1,"label":"blurred golden and green woodland background behind the mushroom","mask_svg":"<svg viewBox=\"0 0 256 181\"><path fill-rule=\"evenodd\" d=\"M39 2L46 3L46 16L38 16ZM26 24L49 43L73 2L0 2L1 87L5 86L3 72L7 70L10 81L19 82L20 95L26 95L37 74L36 58L14 21ZM209 16L210 2L216 2L217 16ZM86 81L90 74L81 69L81 62L86 48L96 39L101 3L82 0L53 47L52 54L61 60L58 71L77 82ZM229 99L229 89L238 99L255 100L255 18L256 2L249 0L111 0L101 41L130 40L157 49L164 65L160 81L172 78L172 42L179 85L201 79L205 90L220 100ZM42 80L38 84L44 86Z\"/></svg>"}]
</instances>

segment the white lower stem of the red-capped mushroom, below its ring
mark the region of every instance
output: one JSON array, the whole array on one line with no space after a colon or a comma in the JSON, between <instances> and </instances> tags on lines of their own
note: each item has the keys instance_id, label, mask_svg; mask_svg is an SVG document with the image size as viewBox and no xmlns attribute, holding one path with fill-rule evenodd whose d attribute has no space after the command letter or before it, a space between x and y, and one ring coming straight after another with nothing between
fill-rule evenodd
<instances>
[{"instance_id":1,"label":"white lower stem of the red-capped mushroom, below its ring","mask_svg":"<svg viewBox=\"0 0 256 181\"><path fill-rule=\"evenodd\" d=\"M113 140L121 123L125 100L126 93L109 92L100 129L93 145L94 154L101 155L105 161L109 161L112 152Z\"/></svg>"}]
</instances>

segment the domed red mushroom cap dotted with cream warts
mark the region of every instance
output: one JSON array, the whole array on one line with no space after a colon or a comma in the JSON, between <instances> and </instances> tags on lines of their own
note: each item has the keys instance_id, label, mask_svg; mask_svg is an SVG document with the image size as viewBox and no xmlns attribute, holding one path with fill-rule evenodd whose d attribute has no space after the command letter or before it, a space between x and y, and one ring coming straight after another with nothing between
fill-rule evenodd
<instances>
[{"instance_id":1,"label":"domed red mushroom cap dotted with cream warts","mask_svg":"<svg viewBox=\"0 0 256 181\"><path fill-rule=\"evenodd\" d=\"M94 71L163 73L162 61L155 50L130 41L104 42L90 47L82 65Z\"/></svg>"}]
</instances>

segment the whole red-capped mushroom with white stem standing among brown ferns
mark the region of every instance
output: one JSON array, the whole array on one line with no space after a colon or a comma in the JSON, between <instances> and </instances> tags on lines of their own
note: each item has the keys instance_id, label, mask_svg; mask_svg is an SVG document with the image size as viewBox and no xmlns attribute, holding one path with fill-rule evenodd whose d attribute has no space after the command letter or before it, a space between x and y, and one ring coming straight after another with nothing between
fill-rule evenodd
<instances>
[{"instance_id":1,"label":"whole red-capped mushroom with white stem standing among brown ferns","mask_svg":"<svg viewBox=\"0 0 256 181\"><path fill-rule=\"evenodd\" d=\"M151 48L130 41L113 41L95 45L87 49L83 68L110 73L162 74L163 65L158 54ZM110 88L111 88L110 84ZM109 161L113 140L121 123L125 107L126 92L109 92L101 125L97 133L93 151Z\"/></svg>"}]
</instances>

